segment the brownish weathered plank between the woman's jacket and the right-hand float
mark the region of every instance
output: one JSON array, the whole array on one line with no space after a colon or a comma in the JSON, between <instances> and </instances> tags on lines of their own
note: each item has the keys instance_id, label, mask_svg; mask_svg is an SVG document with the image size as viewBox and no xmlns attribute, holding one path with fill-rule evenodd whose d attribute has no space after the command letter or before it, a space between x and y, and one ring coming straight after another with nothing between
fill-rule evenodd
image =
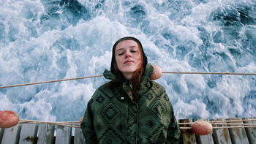
<instances>
[{"instance_id":1,"label":"brownish weathered plank between the woman's jacket and the right-hand float","mask_svg":"<svg viewBox=\"0 0 256 144\"><path fill-rule=\"evenodd\" d=\"M190 123L192 122L190 119L180 119L178 120L179 123ZM186 126L186 127L191 127L188 124L183 124L180 126ZM196 144L196 139L195 139L195 134L192 132L191 129L181 129L181 143L184 144Z\"/></svg>"}]
</instances>

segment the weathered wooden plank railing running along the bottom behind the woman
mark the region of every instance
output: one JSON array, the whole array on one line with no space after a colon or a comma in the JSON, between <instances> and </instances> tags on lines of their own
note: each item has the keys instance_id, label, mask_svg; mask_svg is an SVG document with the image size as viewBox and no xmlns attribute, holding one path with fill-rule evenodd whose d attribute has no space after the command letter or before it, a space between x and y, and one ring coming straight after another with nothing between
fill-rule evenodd
<instances>
[{"instance_id":1,"label":"weathered wooden plank railing running along the bottom behind the woman","mask_svg":"<svg viewBox=\"0 0 256 144\"><path fill-rule=\"evenodd\" d=\"M241 120L249 118L219 118L212 121ZM180 119L179 123L190 123L190 119ZM255 124L256 121L237 121L236 124ZM227 124L227 125L226 125ZM181 129L181 143L184 144L255 144L256 127L227 128L226 124L213 125L217 129L208 135L197 135L191 129ZM189 127L189 124L181 124ZM223 127L223 128L222 128ZM54 124L17 124L8 129L0 128L1 144L82 144L85 143L80 128L57 126Z\"/></svg>"}]
</instances>

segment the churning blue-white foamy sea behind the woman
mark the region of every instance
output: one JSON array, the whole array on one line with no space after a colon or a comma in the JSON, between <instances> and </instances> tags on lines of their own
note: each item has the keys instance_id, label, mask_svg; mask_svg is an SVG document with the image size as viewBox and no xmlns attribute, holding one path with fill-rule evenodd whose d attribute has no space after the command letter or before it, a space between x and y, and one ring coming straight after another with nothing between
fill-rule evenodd
<instances>
[{"instance_id":1,"label":"churning blue-white foamy sea behind the woman","mask_svg":"<svg viewBox=\"0 0 256 144\"><path fill-rule=\"evenodd\" d=\"M102 75L133 36L163 72L256 72L256 0L2 0L0 86ZM174 75L176 118L255 117L255 75ZM78 121L103 77L0 88L0 110Z\"/></svg>"}]
</instances>

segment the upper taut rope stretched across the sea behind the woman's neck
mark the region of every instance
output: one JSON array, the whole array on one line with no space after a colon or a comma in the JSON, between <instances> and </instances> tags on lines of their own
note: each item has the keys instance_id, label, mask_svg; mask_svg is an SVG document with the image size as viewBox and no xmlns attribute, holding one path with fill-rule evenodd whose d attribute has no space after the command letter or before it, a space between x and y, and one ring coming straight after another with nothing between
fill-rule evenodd
<instances>
[{"instance_id":1,"label":"upper taut rope stretched across the sea behind the woman's neck","mask_svg":"<svg viewBox=\"0 0 256 144\"><path fill-rule=\"evenodd\" d=\"M256 75L256 73L241 73L241 72L162 72L163 74L196 74L196 75ZM86 78L93 78L93 77L102 77L103 75L94 75L89 77L75 77L75 78L67 78L61 80L49 80L44 82L36 82L36 83L22 83L10 86L0 86L0 88L11 88L11 87L18 87L18 86L29 86L29 85L37 85L42 83L55 83L67 80L80 80Z\"/></svg>"}]
</instances>

